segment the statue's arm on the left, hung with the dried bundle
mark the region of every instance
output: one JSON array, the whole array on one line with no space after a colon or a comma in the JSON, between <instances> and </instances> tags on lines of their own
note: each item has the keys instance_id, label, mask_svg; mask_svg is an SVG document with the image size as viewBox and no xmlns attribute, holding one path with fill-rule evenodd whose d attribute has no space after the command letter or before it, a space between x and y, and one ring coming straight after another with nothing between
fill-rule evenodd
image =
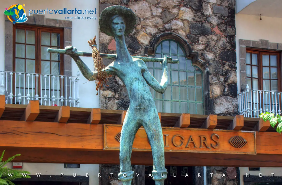
<instances>
[{"instance_id":1,"label":"statue's arm on the left, hung with the dried bundle","mask_svg":"<svg viewBox=\"0 0 282 185\"><path fill-rule=\"evenodd\" d=\"M70 57L72 57L77 64L79 70L81 71L82 75L89 81L96 80L97 77L97 71L93 72L89 69L89 67L81 60L79 56L72 55L72 53L76 52L76 48L73 48L72 46L67 46L65 48L66 51L69 52ZM113 75L113 70L107 66L105 69L103 69L107 72L107 74Z\"/></svg>"}]
</instances>

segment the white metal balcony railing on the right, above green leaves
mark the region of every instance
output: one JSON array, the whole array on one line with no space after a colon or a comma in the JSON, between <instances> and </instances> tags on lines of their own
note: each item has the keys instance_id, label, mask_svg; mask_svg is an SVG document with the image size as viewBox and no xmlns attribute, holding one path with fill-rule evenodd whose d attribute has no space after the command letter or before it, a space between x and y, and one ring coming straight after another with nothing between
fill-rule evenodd
<instances>
[{"instance_id":1,"label":"white metal balcony railing on the right, above green leaves","mask_svg":"<svg viewBox=\"0 0 282 185\"><path fill-rule=\"evenodd\" d=\"M249 89L238 94L239 113L248 118L259 118L261 113L271 112L281 115L281 93Z\"/></svg>"}]
</instances>

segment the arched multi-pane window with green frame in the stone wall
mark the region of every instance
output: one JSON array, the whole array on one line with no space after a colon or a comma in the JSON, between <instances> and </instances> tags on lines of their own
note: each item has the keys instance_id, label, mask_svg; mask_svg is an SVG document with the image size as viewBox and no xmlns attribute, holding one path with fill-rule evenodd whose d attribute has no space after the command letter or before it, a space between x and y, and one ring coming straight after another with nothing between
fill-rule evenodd
<instances>
[{"instance_id":1,"label":"arched multi-pane window with green frame in the stone wall","mask_svg":"<svg viewBox=\"0 0 282 185\"><path fill-rule=\"evenodd\" d=\"M203 73L186 58L184 48L175 40L161 41L155 49L155 57L163 58L164 54L179 59L179 64L168 65L169 85L164 94L153 89L151 93L158 112L204 114ZM160 82L161 64L146 62L150 73Z\"/></svg>"}]
</instances>

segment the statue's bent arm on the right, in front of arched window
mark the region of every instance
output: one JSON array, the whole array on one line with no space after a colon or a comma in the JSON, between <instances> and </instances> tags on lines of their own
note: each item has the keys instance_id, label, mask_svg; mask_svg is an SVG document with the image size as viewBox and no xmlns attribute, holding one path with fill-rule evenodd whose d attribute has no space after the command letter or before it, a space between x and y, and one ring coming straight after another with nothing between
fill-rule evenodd
<instances>
[{"instance_id":1,"label":"statue's bent arm on the right, in front of arched window","mask_svg":"<svg viewBox=\"0 0 282 185\"><path fill-rule=\"evenodd\" d=\"M164 61L162 62L162 78L160 83L158 83L156 78L149 72L145 62L143 62L142 66L142 75L147 84L150 85L155 91L163 94L168 87L168 62L166 55L164 56Z\"/></svg>"}]
</instances>

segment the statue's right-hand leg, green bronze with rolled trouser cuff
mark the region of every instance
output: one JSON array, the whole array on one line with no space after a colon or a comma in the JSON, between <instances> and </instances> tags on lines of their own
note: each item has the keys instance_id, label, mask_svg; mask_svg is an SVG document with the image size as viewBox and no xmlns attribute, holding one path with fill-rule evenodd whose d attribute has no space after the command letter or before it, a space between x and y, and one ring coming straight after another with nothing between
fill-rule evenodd
<instances>
[{"instance_id":1,"label":"statue's right-hand leg, green bronze with rolled trouser cuff","mask_svg":"<svg viewBox=\"0 0 282 185\"><path fill-rule=\"evenodd\" d=\"M142 125L149 138L153 154L153 179L156 185L164 185L164 180L168 171L164 164L164 138L162 135L162 127L158 117L157 109L154 106L149 106L150 110L146 111L147 119L142 122Z\"/></svg>"}]
</instances>

